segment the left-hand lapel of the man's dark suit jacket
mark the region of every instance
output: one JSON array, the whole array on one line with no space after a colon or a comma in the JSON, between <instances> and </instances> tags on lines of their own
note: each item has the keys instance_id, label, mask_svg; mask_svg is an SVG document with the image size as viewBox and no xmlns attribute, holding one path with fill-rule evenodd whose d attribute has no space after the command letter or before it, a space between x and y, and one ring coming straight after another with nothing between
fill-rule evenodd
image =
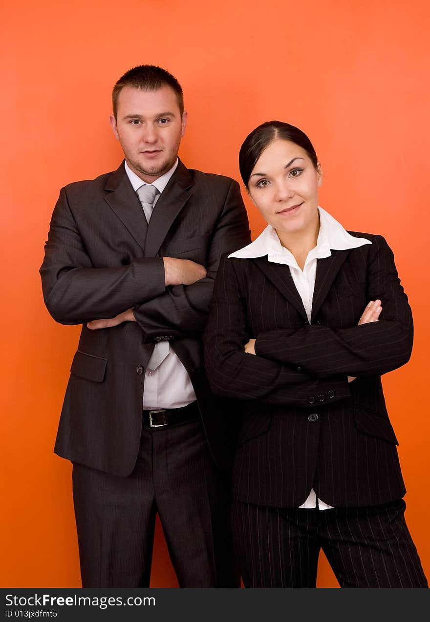
<instances>
[{"instance_id":1,"label":"left-hand lapel of the man's dark suit jacket","mask_svg":"<svg viewBox=\"0 0 430 622\"><path fill-rule=\"evenodd\" d=\"M147 222L139 198L124 169L124 161L106 182L105 190L106 202L144 251Z\"/></svg>"}]
</instances>

